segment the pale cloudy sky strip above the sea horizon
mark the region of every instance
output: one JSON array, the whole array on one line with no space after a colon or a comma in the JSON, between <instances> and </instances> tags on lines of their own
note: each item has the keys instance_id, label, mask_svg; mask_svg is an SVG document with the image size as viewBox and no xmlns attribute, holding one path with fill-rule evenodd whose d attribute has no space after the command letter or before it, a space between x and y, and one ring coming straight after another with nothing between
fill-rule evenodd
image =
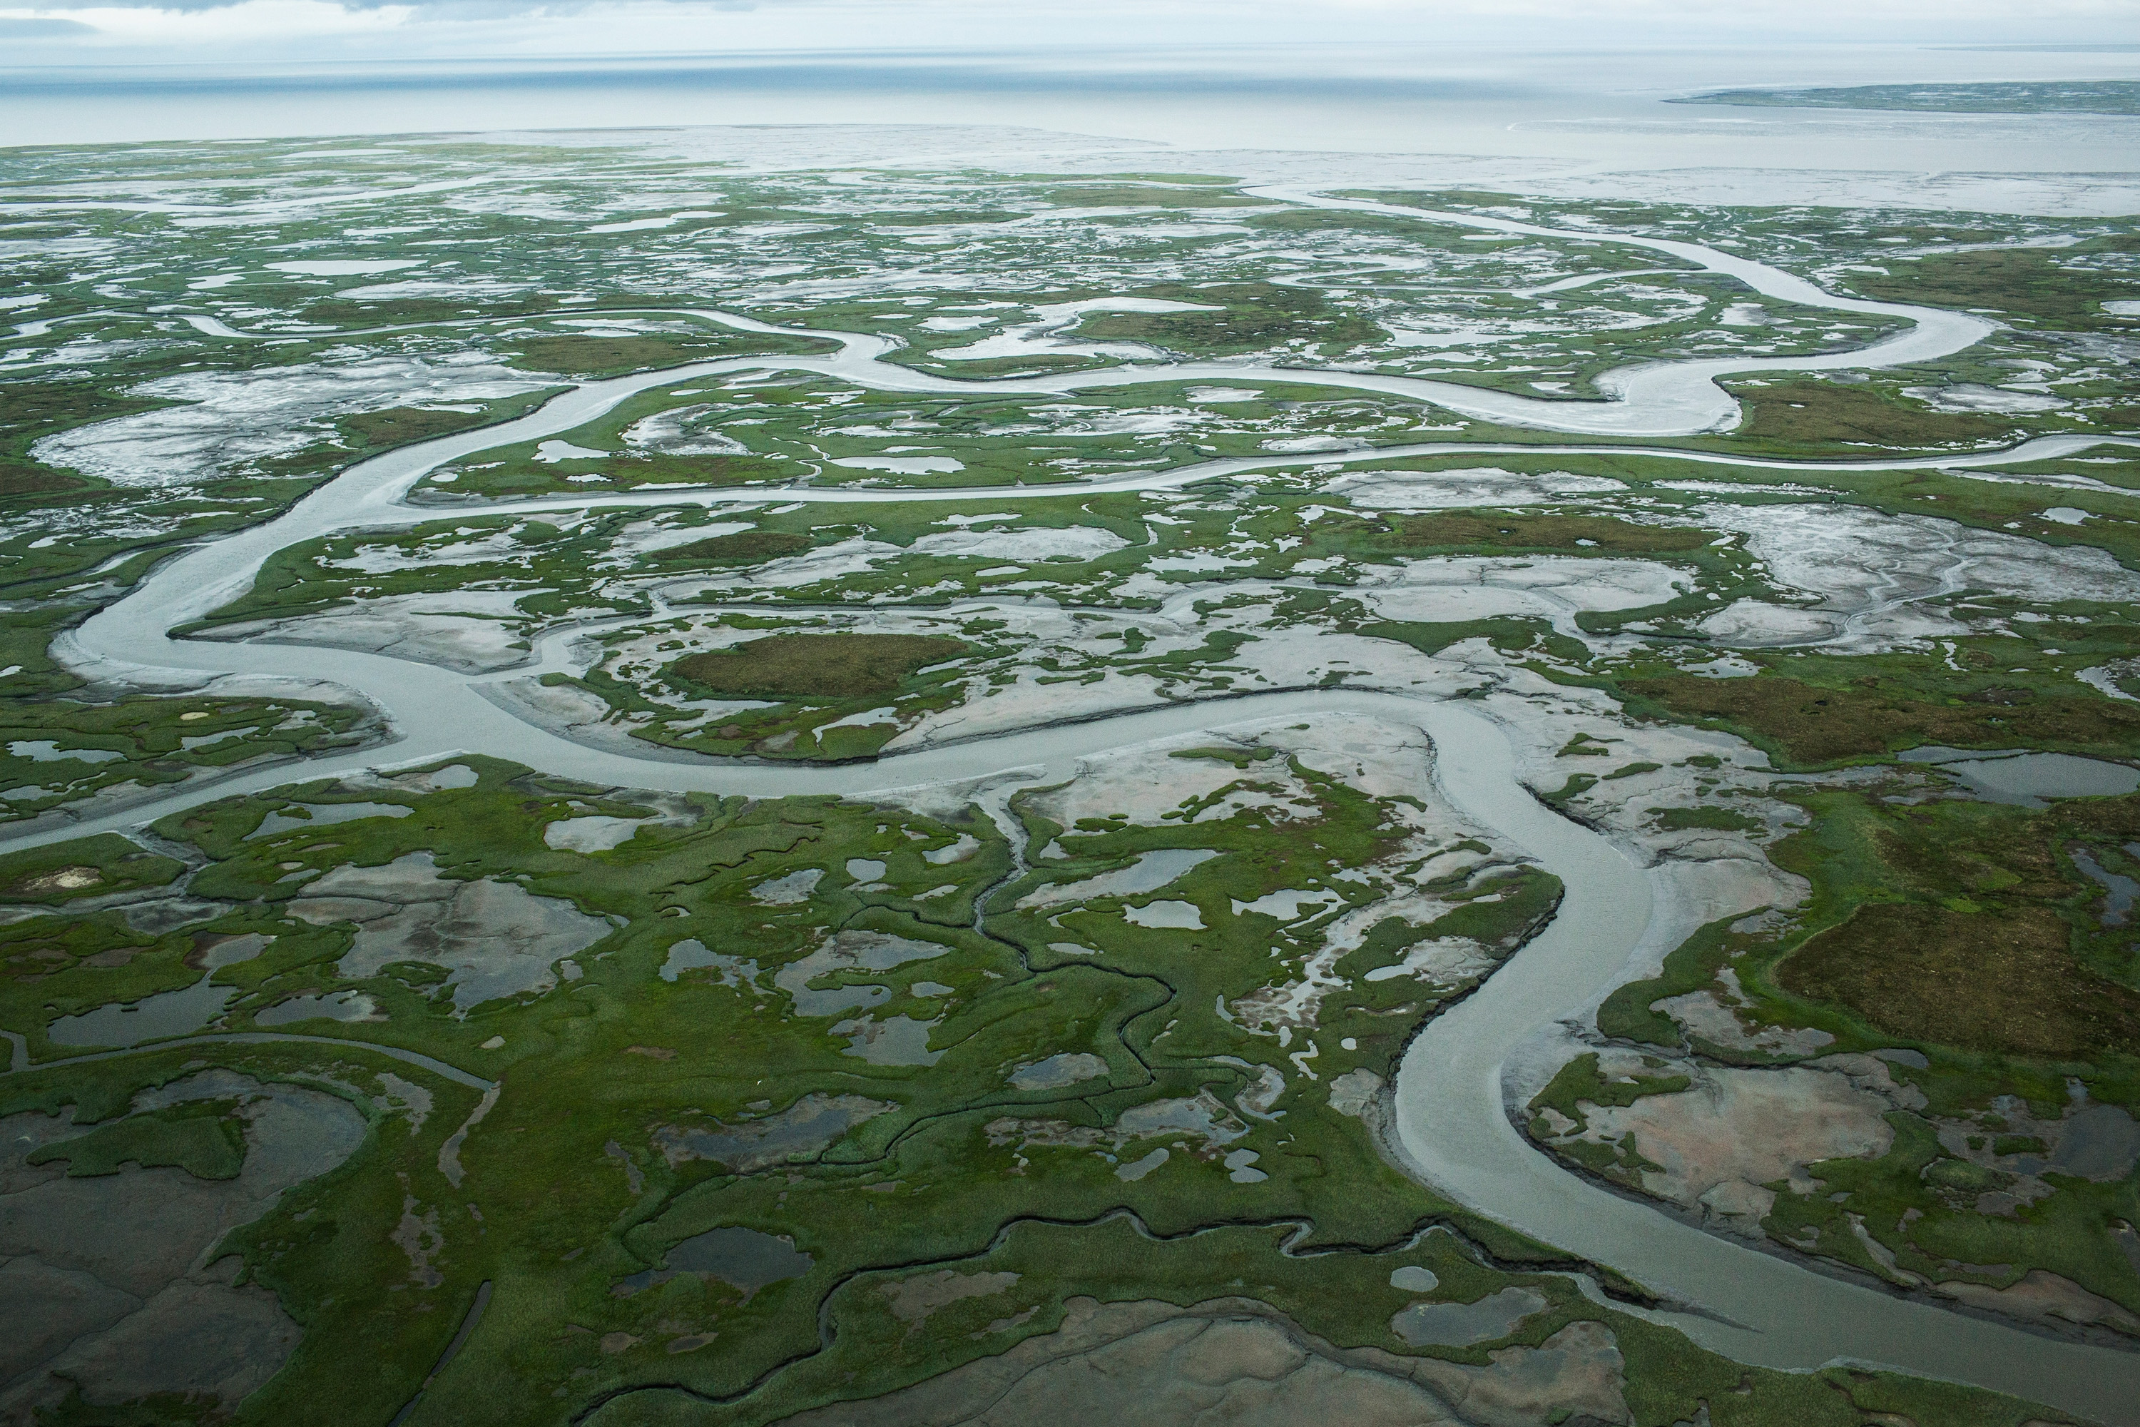
<instances>
[{"instance_id":1,"label":"pale cloudy sky strip above the sea horizon","mask_svg":"<svg viewBox=\"0 0 2140 1427\"><path fill-rule=\"evenodd\" d=\"M0 66L1085 45L2136 45L2140 0L0 0Z\"/></svg>"}]
</instances>

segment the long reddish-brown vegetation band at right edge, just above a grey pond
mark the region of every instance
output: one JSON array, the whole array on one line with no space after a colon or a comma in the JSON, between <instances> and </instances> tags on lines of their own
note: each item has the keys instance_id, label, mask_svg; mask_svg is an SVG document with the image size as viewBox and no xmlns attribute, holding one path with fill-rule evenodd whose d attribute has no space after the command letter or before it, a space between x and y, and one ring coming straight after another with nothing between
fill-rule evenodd
<instances>
[{"instance_id":1,"label":"long reddish-brown vegetation band at right edge, just above a grey pond","mask_svg":"<svg viewBox=\"0 0 2140 1427\"><path fill-rule=\"evenodd\" d=\"M1776 742L1800 764L1917 745L1956 749L2099 747L2129 749L2140 710L2108 700L2046 700L2027 689L1984 689L1960 704L1913 700L1894 689L1823 689L1795 678L1633 678L1624 689L1680 717L1736 723Z\"/></svg>"}]
</instances>

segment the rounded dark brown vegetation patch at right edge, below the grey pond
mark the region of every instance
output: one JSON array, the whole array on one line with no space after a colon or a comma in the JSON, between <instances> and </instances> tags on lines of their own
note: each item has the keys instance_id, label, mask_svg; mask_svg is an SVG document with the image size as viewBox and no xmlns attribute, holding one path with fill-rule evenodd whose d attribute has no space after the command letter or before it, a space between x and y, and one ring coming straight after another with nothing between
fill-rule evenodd
<instances>
[{"instance_id":1,"label":"rounded dark brown vegetation patch at right edge, below the grey pond","mask_svg":"<svg viewBox=\"0 0 2140 1427\"><path fill-rule=\"evenodd\" d=\"M1860 907L1791 952L1776 982L1902 1035L1962 1050L2093 1059L2140 1053L2140 995L2086 971L2046 907Z\"/></svg>"}]
</instances>

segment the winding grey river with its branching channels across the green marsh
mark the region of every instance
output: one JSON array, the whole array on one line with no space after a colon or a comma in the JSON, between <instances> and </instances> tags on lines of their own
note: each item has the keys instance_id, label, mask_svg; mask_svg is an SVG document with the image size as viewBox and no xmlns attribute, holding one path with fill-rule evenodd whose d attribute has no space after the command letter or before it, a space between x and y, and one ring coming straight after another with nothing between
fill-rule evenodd
<instances>
[{"instance_id":1,"label":"winding grey river with its branching channels across the green marsh","mask_svg":"<svg viewBox=\"0 0 2140 1427\"><path fill-rule=\"evenodd\" d=\"M1372 715L1417 727L1434 742L1436 779L1449 802L1500 837L1511 849L1537 858L1566 888L1560 916L1552 926L1504 963L1474 995L1427 1023L1402 1061L1395 1080L1397 1149L1423 1183L1477 1213L1648 1286L1673 1305L1663 1314L1667 1320L1699 1344L1733 1359L1795 1369L1832 1361L1883 1365L2016 1393L2106 1423L2140 1423L2140 1354L2052 1339L2005 1322L1900 1299L1817 1273L1795 1260L1744 1243L1712 1237L1571 1175L1524 1140L1504 1106L1504 1065L1511 1055L1556 1021L1584 1014L1611 984L1622 980L1650 929L1673 920L1678 892L1667 869L1644 871L1607 839L1541 807L1515 777L1515 753L1507 736L1477 706L1363 689L1258 693L1019 730L882 757L871 764L775 766L685 753L661 755L655 749L648 749L644 757L591 749L492 704L484 697L479 680L428 663L327 648L169 638L169 629L199 620L242 597L253 586L261 565L280 550L336 531L404 526L447 513L407 503L411 486L447 462L499 445L563 434L638 392L719 372L798 370L877 389L944 394L1068 394L1186 379L1312 383L1385 392L1534 430L1594 436L1686 436L1733 421L1736 402L1714 385L1721 374L1924 362L1960 351L1990 329L1988 323L1956 312L1838 300L1791 274L1697 244L1554 231L1470 214L1425 214L1280 190L1265 190L1263 197L1320 208L1370 208L1423 223L1631 244L1693 261L1787 302L1902 317L1913 325L1855 353L1624 368L1599 379L1599 387L1609 394L1609 400L1603 402L1528 398L1455 383L1361 372L1216 362L1141 364L1017 381L957 381L886 364L882 357L890 344L884 338L822 334L839 340L841 351L822 357L732 357L595 381L565 392L518 421L426 441L360 462L280 518L195 546L167 561L126 597L101 610L71 635L60 638L54 653L86 676L141 687L201 685L216 676L342 685L387 712L396 732L389 749L396 764L428 764L456 753L488 753L591 783L755 798L790 794L867 798L897 787L952 781L993 783L1008 777L1057 781L1074 777L1079 759L1130 745L1224 727L1254 732L1318 715ZM768 327L725 312L696 312L696 317L745 332L794 336L792 327ZM1278 466L1513 451L1648 454L1770 471L1982 469L2069 456L2089 445L2097 445L2097 441L2050 436L2003 454L1980 451L1932 460L1755 462L1669 447L1427 443L1297 458L1213 460L1168 473L1134 473L1059 486L663 490L514 501L494 507L460 505L449 513L736 505L764 503L768 496L820 503L967 503L1002 501L1008 494L1079 498L1094 492L1175 490L1218 475ZM357 772L377 766L379 753L379 749L340 753L308 759L295 770L291 766L259 768L214 783L195 783L169 798L137 804L124 813L66 824L54 822L32 832L0 839L0 849L137 826L210 798L263 792L289 783L293 777Z\"/></svg>"}]
</instances>

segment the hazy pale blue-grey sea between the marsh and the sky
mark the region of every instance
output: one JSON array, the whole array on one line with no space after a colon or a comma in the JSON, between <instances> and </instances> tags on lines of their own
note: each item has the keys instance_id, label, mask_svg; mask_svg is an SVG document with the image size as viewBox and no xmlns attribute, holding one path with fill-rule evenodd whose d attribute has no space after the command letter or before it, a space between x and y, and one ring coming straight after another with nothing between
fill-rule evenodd
<instances>
[{"instance_id":1,"label":"hazy pale blue-grey sea between the marsh and the sky","mask_svg":"<svg viewBox=\"0 0 2140 1427\"><path fill-rule=\"evenodd\" d=\"M948 145L944 156L974 145L1040 156L1059 152L1061 135L1079 135L1074 148L1119 148L1124 158L1151 145L1436 156L1444 163L1423 178L1440 182L1464 182L1468 171L1579 182L1624 171L1751 169L1911 175L1939 190L1954 188L1956 175L2095 173L2119 175L2110 186L2129 193L2123 175L2140 169L2140 118L1665 101L1736 86L2136 77L2140 53L2129 49L1898 45L1569 51L1290 45L81 66L0 71L0 143L702 124L987 126L1044 135L976 137ZM922 152L905 152L914 145ZM800 148L817 148L815 163L912 163L946 143L942 135L903 145L895 135L854 133ZM790 152L790 160L800 158ZM1273 165L1267 175L1316 178L1312 165ZM1986 201L1999 184L1960 188L1943 205L2005 205ZM1763 199L1744 193L1742 201ZM2104 203L2119 210L2127 199L2080 201L2082 210Z\"/></svg>"}]
</instances>

